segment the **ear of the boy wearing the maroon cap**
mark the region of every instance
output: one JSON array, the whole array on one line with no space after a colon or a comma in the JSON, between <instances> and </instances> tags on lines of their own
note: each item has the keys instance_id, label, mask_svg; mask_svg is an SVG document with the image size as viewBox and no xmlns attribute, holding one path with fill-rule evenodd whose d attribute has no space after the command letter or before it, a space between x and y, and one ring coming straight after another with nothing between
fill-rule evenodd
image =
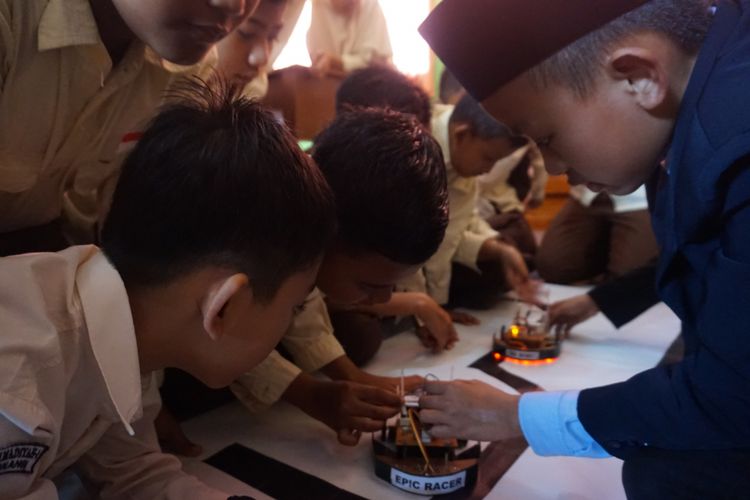
<instances>
[{"instance_id":1,"label":"ear of the boy wearing the maroon cap","mask_svg":"<svg viewBox=\"0 0 750 500\"><path fill-rule=\"evenodd\" d=\"M611 78L625 81L628 93L647 111L658 108L667 99L666 68L648 48L618 48L610 54L606 69Z\"/></svg>"}]
</instances>

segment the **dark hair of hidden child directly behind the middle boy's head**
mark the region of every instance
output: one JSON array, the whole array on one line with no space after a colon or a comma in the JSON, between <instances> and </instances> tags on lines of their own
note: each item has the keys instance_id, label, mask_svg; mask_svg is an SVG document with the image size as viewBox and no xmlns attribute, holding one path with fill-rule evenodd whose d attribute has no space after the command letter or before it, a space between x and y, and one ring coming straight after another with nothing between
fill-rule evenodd
<instances>
[{"instance_id":1,"label":"dark hair of hidden child directly behind the middle boy's head","mask_svg":"<svg viewBox=\"0 0 750 500\"><path fill-rule=\"evenodd\" d=\"M336 114L352 108L391 108L412 114L430 126L430 97L406 75L386 65L358 69L341 82L336 92Z\"/></svg>"}]
</instances>

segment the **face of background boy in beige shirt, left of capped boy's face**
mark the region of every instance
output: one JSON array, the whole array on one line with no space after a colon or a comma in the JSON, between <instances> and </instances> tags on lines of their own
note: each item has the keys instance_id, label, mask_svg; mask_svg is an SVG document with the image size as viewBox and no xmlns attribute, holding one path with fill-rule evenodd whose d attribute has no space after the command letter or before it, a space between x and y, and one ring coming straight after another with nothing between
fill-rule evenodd
<instances>
[{"instance_id":1,"label":"face of background boy in beige shirt, left of capped boy's face","mask_svg":"<svg viewBox=\"0 0 750 500\"><path fill-rule=\"evenodd\" d=\"M451 165L461 177L486 174L515 149L509 138L482 139L462 124L452 125L450 135Z\"/></svg>"}]
</instances>

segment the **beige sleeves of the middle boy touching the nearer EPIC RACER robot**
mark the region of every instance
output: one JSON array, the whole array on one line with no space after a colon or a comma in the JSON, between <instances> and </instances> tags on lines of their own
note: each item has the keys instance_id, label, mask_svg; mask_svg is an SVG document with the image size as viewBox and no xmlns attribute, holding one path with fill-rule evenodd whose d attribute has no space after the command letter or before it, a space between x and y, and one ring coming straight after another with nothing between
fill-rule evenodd
<instances>
[{"instance_id":1,"label":"beige sleeves of the middle boy touching the nearer EPIC RACER robot","mask_svg":"<svg viewBox=\"0 0 750 500\"><path fill-rule=\"evenodd\" d=\"M302 371L318 371L345 354L333 335L328 308L318 289L310 293L305 310L294 318L281 343L294 363L273 351L232 385L235 395L253 411L263 410L280 400Z\"/></svg>"}]
</instances>

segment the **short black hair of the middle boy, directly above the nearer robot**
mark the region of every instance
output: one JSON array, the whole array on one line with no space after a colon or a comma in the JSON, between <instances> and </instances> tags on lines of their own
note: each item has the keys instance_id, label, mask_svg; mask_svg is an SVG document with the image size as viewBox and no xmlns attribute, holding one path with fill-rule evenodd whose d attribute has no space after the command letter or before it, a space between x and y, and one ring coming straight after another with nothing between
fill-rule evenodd
<instances>
[{"instance_id":1,"label":"short black hair of the middle boy, directly above the nearer robot","mask_svg":"<svg viewBox=\"0 0 750 500\"><path fill-rule=\"evenodd\" d=\"M406 265L437 251L448 225L445 164L413 115L344 112L320 133L313 158L333 190L345 248Z\"/></svg>"}]
</instances>

